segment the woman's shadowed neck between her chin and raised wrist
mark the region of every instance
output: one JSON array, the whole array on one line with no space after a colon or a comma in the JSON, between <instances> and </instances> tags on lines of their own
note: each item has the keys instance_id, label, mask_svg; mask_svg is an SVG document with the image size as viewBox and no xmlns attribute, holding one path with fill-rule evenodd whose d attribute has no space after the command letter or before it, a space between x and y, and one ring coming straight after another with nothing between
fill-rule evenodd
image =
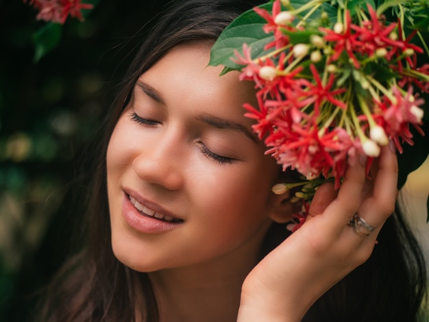
<instances>
[{"instance_id":1,"label":"woman's shadowed neck between her chin and raised wrist","mask_svg":"<svg viewBox=\"0 0 429 322\"><path fill-rule=\"evenodd\" d=\"M260 245L260 240L258 244ZM241 286L259 260L258 246L192 267L149 273L160 321L236 321Z\"/></svg>"}]
</instances>

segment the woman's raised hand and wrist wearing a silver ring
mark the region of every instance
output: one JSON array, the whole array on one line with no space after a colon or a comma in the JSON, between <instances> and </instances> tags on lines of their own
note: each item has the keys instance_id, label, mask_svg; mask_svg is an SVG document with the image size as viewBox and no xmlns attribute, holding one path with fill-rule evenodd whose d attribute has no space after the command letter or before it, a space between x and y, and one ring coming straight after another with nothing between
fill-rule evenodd
<instances>
[{"instance_id":1,"label":"woman's raised hand and wrist wearing a silver ring","mask_svg":"<svg viewBox=\"0 0 429 322\"><path fill-rule=\"evenodd\" d=\"M306 223L247 275L237 321L301 321L326 290L369 258L395 208L397 159L392 150L382 148L371 168L372 180L356 162L338 191L332 184L317 190ZM375 227L367 237L347 225L356 212Z\"/></svg>"}]
</instances>

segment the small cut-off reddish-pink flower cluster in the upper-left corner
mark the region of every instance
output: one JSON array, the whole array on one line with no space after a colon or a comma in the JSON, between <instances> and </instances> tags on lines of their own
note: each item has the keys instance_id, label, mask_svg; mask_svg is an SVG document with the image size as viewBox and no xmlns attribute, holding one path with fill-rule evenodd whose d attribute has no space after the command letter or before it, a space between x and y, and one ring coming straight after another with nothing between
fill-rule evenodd
<instances>
[{"instance_id":1,"label":"small cut-off reddish-pink flower cluster in the upper-left corner","mask_svg":"<svg viewBox=\"0 0 429 322\"><path fill-rule=\"evenodd\" d=\"M27 3L27 0L23 0ZM29 0L38 10L36 18L42 21L52 21L53 23L64 24L66 19L71 16L84 21L82 9L93 9L92 4L81 3L82 0Z\"/></svg>"}]
</instances>

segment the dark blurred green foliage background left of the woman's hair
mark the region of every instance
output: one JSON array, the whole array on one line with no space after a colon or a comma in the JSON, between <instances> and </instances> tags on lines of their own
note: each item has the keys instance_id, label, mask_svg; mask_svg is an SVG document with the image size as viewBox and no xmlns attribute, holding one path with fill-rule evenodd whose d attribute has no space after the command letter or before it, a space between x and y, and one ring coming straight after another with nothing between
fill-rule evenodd
<instances>
[{"instance_id":1,"label":"dark blurred green foliage background left of the woman's hair","mask_svg":"<svg viewBox=\"0 0 429 322\"><path fill-rule=\"evenodd\" d=\"M45 23L23 1L0 0L0 321L32 321L39 288L82 235L84 151L166 1L82 2L98 4L34 63Z\"/></svg>"}]
</instances>

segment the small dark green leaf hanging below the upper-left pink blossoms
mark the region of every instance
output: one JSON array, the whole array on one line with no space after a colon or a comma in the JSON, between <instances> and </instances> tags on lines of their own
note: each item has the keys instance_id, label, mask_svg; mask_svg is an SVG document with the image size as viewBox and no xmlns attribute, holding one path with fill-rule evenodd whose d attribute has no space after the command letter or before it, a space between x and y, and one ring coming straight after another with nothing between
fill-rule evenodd
<instances>
[{"instance_id":1,"label":"small dark green leaf hanging below the upper-left pink blossoms","mask_svg":"<svg viewBox=\"0 0 429 322\"><path fill-rule=\"evenodd\" d=\"M59 23L47 23L33 36L34 62L38 62L44 55L53 50L60 43L62 25Z\"/></svg>"}]
</instances>

